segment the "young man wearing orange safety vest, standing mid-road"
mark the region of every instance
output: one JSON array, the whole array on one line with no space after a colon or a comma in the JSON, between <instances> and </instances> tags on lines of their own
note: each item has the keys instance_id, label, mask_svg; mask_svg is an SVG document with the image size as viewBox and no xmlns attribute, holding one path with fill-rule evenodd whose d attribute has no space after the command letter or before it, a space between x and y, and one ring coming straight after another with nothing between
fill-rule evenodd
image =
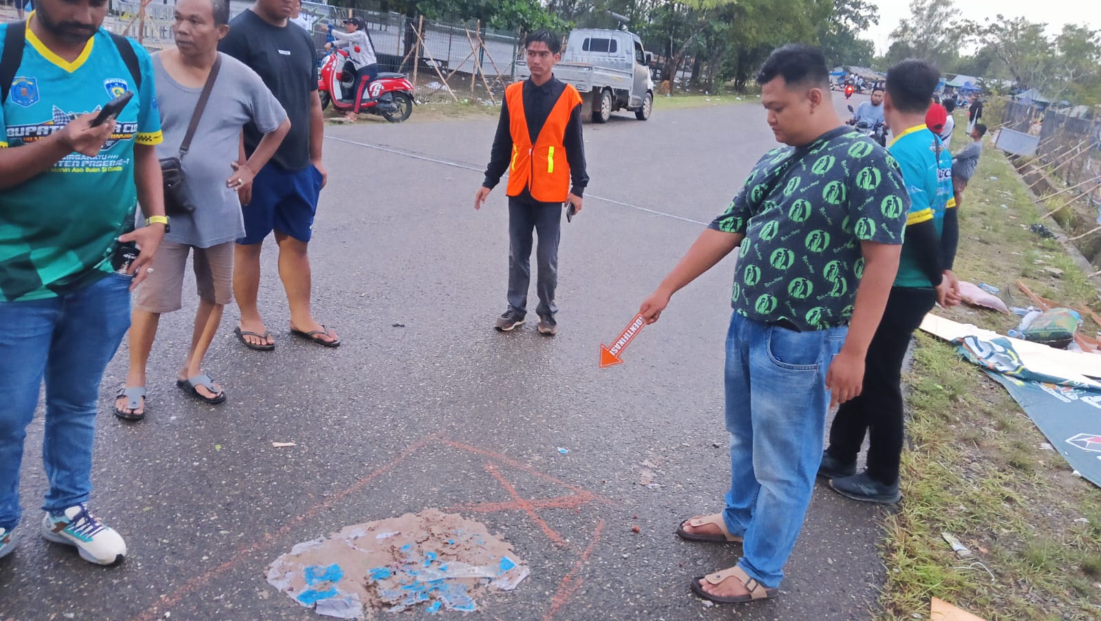
<instances>
[{"instance_id":1,"label":"young man wearing orange safety vest, standing mid-road","mask_svg":"<svg viewBox=\"0 0 1101 621\"><path fill-rule=\"evenodd\" d=\"M554 292L558 284L563 204L568 203L574 214L580 211L581 194L589 184L581 138L581 96L571 85L554 77L554 66L562 59L562 40L557 35L545 30L533 32L524 41L524 52L532 77L504 91L486 181L475 195L475 209L481 208L508 171L509 308L494 327L506 333L524 323L535 229L539 236L535 251L539 265L535 283L538 331L554 336L558 331ZM568 217L573 218L573 214Z\"/></svg>"}]
</instances>

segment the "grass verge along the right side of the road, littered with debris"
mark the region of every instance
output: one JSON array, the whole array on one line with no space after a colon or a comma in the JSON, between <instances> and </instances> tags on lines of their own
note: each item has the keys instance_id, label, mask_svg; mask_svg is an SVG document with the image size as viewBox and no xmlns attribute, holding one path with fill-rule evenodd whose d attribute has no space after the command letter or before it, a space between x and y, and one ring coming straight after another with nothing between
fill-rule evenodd
<instances>
[{"instance_id":1,"label":"grass verge along the right side of the road, littered with debris","mask_svg":"<svg viewBox=\"0 0 1101 621\"><path fill-rule=\"evenodd\" d=\"M1013 306L1029 304L1021 280L1057 303L1095 309L1097 290L1062 247L1027 231L1040 215L1011 164L986 149L960 211L957 273L1000 287ZM937 312L1002 334L1020 320ZM880 618L925 619L933 597L990 621L1101 618L1101 490L1042 450L1046 439L1005 390L952 346L918 334L906 381L904 500L886 518ZM957 557L945 532L974 556Z\"/></svg>"}]
</instances>

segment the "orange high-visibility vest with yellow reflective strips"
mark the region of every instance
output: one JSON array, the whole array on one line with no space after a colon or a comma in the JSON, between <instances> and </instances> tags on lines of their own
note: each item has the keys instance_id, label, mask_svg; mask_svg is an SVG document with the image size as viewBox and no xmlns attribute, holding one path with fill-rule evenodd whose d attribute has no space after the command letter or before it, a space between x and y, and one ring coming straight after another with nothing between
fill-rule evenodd
<instances>
[{"instance_id":1,"label":"orange high-visibility vest with yellow reflective strips","mask_svg":"<svg viewBox=\"0 0 1101 621\"><path fill-rule=\"evenodd\" d=\"M563 138L574 107L581 103L581 95L573 85L566 85L547 115L535 144L532 144L527 133L527 117L524 116L524 83L510 84L504 89L504 100L509 106L512 133L512 159L505 194L519 196L526 187L532 198L541 203L566 200L569 194L569 162Z\"/></svg>"}]
</instances>

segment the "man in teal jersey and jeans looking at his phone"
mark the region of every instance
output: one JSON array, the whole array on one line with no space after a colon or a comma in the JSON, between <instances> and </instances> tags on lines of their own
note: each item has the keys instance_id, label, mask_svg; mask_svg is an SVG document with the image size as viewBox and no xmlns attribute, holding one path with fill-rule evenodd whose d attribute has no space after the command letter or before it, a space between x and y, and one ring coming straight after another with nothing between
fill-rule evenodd
<instances>
[{"instance_id":1,"label":"man in teal jersey and jeans looking at his phone","mask_svg":"<svg viewBox=\"0 0 1101 621\"><path fill-rule=\"evenodd\" d=\"M0 103L0 556L19 534L23 443L43 380L42 536L100 565L127 553L86 506L97 400L130 325L130 291L168 222L150 57L102 30L106 13L107 0L41 0L25 24L0 25L11 80ZM117 117L95 126L128 90ZM139 201L150 226L134 231Z\"/></svg>"}]
</instances>

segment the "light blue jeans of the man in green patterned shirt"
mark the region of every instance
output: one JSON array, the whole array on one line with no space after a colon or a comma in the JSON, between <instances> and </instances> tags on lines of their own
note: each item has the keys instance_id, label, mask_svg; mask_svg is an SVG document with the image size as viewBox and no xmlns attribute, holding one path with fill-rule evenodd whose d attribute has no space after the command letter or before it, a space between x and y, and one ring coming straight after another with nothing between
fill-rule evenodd
<instances>
[{"instance_id":1,"label":"light blue jeans of the man in green patterned shirt","mask_svg":"<svg viewBox=\"0 0 1101 621\"><path fill-rule=\"evenodd\" d=\"M727 529L744 537L738 565L778 587L821 462L826 371L848 326L797 333L737 313L727 334L730 491Z\"/></svg>"}]
</instances>

